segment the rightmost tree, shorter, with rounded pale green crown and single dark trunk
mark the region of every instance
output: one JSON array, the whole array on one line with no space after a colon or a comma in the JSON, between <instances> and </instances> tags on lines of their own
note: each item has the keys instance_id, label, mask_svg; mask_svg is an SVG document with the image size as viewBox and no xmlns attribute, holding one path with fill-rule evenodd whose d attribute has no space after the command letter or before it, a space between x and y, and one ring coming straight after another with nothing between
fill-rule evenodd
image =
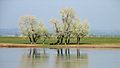
<instances>
[{"instance_id":1,"label":"rightmost tree, shorter, with rounded pale green crown and single dark trunk","mask_svg":"<svg viewBox=\"0 0 120 68\"><path fill-rule=\"evenodd\" d=\"M79 19L76 19L76 22L73 24L72 34L73 36L76 36L78 44L80 44L80 38L87 36L88 32L88 21L85 20L83 23L81 23Z\"/></svg>"}]
</instances>

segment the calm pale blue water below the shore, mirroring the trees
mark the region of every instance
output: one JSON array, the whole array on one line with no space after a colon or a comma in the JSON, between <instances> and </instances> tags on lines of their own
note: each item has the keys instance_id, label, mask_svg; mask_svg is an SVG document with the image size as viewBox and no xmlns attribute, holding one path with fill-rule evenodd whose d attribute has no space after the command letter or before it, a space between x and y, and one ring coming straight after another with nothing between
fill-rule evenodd
<instances>
[{"instance_id":1,"label":"calm pale blue water below the shore, mirroring the trees","mask_svg":"<svg viewBox=\"0 0 120 68\"><path fill-rule=\"evenodd\" d=\"M29 56L29 48L0 48L0 68L120 68L120 50L70 49L70 56L57 56L55 49L38 49L40 56Z\"/></svg>"}]
</instances>

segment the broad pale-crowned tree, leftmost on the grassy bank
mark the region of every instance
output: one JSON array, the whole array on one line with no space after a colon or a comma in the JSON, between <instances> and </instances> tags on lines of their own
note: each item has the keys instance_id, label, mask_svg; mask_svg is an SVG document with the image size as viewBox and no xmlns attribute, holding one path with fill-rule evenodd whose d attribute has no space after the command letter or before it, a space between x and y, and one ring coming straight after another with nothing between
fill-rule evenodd
<instances>
[{"instance_id":1,"label":"broad pale-crowned tree, leftmost on the grassy bank","mask_svg":"<svg viewBox=\"0 0 120 68\"><path fill-rule=\"evenodd\" d=\"M22 16L19 24L22 35L28 37L30 43L36 43L41 36L47 33L45 26L35 16Z\"/></svg>"}]
</instances>

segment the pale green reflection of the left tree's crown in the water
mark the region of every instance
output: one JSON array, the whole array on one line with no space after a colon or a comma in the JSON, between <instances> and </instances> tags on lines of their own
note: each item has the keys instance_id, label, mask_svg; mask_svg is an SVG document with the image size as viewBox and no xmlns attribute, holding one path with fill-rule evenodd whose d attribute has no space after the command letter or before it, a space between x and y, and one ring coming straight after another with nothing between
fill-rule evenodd
<instances>
[{"instance_id":1,"label":"pale green reflection of the left tree's crown in the water","mask_svg":"<svg viewBox=\"0 0 120 68\"><path fill-rule=\"evenodd\" d=\"M21 59L21 68L45 68L48 56L46 54L41 55L23 55Z\"/></svg>"}]
</instances>

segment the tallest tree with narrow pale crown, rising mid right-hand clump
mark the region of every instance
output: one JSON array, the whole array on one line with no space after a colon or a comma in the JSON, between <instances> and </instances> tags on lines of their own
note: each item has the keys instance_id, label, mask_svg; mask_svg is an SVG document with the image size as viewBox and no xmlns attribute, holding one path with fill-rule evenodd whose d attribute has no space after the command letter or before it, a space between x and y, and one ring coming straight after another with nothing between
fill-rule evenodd
<instances>
[{"instance_id":1,"label":"tallest tree with narrow pale crown, rising mid right-hand clump","mask_svg":"<svg viewBox=\"0 0 120 68\"><path fill-rule=\"evenodd\" d=\"M70 42L70 36L72 33L72 24L74 23L75 19L75 12L72 8L63 8L60 11L62 23L63 23L63 30L64 30L64 37L65 43Z\"/></svg>"}]
</instances>

